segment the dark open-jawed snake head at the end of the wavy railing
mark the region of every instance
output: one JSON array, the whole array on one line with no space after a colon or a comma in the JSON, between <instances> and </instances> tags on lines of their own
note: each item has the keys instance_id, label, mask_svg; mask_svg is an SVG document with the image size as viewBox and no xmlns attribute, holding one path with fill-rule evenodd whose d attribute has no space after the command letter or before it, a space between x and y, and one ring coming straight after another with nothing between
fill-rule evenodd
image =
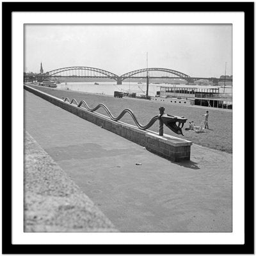
<instances>
[{"instance_id":1,"label":"dark open-jawed snake head at the end of the wavy railing","mask_svg":"<svg viewBox=\"0 0 256 256\"><path fill-rule=\"evenodd\" d=\"M168 114L163 114L159 118L161 118L163 123L173 132L184 136L182 133L182 127L186 123L187 118L184 118L184 116L172 116Z\"/></svg>"}]
</instances>

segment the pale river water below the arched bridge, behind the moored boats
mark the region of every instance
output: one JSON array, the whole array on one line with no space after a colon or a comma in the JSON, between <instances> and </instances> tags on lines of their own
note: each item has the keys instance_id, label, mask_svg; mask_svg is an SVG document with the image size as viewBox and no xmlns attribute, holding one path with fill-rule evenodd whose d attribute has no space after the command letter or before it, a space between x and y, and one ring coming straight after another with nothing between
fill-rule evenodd
<instances>
[{"instance_id":1,"label":"pale river water below the arched bridge, behind the moored boats","mask_svg":"<svg viewBox=\"0 0 256 256\"><path fill-rule=\"evenodd\" d=\"M113 82L97 82L99 84L89 83L61 83L57 84L57 88L63 90L74 90L79 92L89 92L89 93L100 93L106 95L114 95L115 91L118 92L130 92L136 93L136 95L145 95L147 90L146 83L130 83L123 82L122 84L116 84ZM220 86L200 86L200 85L187 85L187 84L149 84L148 85L148 95L155 96L156 92L160 90L160 86L176 86L177 88L220 88L220 93L223 93L223 87ZM225 88L225 93L232 95L232 87L228 86Z\"/></svg>"}]
</instances>

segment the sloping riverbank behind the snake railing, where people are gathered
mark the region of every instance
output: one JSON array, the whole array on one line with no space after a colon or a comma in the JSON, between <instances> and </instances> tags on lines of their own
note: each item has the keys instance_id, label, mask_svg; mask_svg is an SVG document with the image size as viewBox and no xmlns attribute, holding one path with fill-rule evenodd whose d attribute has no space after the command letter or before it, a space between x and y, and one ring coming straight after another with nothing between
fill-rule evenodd
<instances>
[{"instance_id":1,"label":"sloping riverbank behind the snake railing, where people are gathered","mask_svg":"<svg viewBox=\"0 0 256 256\"><path fill-rule=\"evenodd\" d=\"M170 115L184 116L188 118L188 121L193 120L196 125L202 124L204 120L205 109L204 108L189 108L188 106L175 106L174 104L165 104L152 102L150 100L132 99L124 97L114 98L109 95L93 94L76 91L57 90L41 86L32 86L37 90L54 95L58 98L68 97L69 99L76 99L77 101L85 100L86 103L92 108L97 104L105 104L114 116L120 114L125 108L132 109L134 115L138 118L138 121L145 125L154 116L159 114L159 107L164 106L165 113ZM184 136L173 134L167 127L164 127L164 133L172 136L184 138L185 140L192 141L195 144L203 147L213 148L224 152L232 153L232 112L222 111L221 109L208 109L209 111L209 130L205 130L202 133L195 133L193 131L185 131L185 127L188 127L188 121L184 125ZM104 109L98 109L98 113L106 115ZM127 124L134 124L131 116L125 115L122 120ZM159 124L156 122L150 130L158 131Z\"/></svg>"}]
</instances>

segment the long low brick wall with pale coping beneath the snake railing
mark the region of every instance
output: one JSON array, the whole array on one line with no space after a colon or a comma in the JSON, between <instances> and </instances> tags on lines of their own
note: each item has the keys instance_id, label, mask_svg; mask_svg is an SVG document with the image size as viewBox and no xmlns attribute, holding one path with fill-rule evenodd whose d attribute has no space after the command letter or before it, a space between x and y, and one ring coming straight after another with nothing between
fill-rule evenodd
<instances>
[{"instance_id":1,"label":"long low brick wall with pale coping beneath the snake railing","mask_svg":"<svg viewBox=\"0 0 256 256\"><path fill-rule=\"evenodd\" d=\"M70 113L73 113L85 120L92 122L108 131L114 132L127 140L133 141L143 147L146 147L150 152L170 159L172 161L189 161L191 153L191 141L182 140L174 136L164 134L159 136L153 131L143 131L134 125L125 124L123 122L115 122L108 116L99 113L92 113L84 108L77 108L76 105L64 102L62 99L41 92L29 86L24 85L24 89L31 93L51 102L52 104L63 108ZM100 102L99 102L100 103Z\"/></svg>"}]
</instances>

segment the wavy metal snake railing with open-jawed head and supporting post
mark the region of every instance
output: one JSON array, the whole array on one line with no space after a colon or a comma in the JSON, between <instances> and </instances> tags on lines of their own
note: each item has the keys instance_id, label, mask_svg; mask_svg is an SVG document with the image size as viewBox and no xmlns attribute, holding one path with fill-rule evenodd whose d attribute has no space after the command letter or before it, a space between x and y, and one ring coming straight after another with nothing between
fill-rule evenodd
<instances>
[{"instance_id":1,"label":"wavy metal snake railing with open-jawed head and supporting post","mask_svg":"<svg viewBox=\"0 0 256 256\"><path fill-rule=\"evenodd\" d=\"M184 125L184 123L186 122L186 118L184 118L183 116L172 116L172 115L166 115L164 114L164 108L161 107L159 108L159 115L154 116L147 125L141 125L140 122L138 122L136 116L134 115L134 113L131 111L131 109L124 109L120 115L118 115L117 117L113 116L112 113L109 111L108 107L105 106L104 104L99 104L97 105L95 108L90 108L88 106L88 104L84 101L81 100L79 103L77 102L76 99L68 99L67 97L64 99L64 102L69 102L70 104L73 104L73 102L76 104L76 106L78 108L80 108L82 105L90 112L94 112L99 108L103 108L105 109L105 111L108 113L108 116L111 118L111 120L113 121L118 121L120 120L125 113L129 113L129 115L131 115L132 119L134 120L135 124L137 125L137 127L141 130L147 130L149 127L151 127L156 120L159 120L159 135L163 136L163 124L165 124L169 129L171 129L173 132L177 133L177 134L182 134L182 127ZM178 123L178 125L177 125ZM183 135L183 134L182 134Z\"/></svg>"}]
</instances>

